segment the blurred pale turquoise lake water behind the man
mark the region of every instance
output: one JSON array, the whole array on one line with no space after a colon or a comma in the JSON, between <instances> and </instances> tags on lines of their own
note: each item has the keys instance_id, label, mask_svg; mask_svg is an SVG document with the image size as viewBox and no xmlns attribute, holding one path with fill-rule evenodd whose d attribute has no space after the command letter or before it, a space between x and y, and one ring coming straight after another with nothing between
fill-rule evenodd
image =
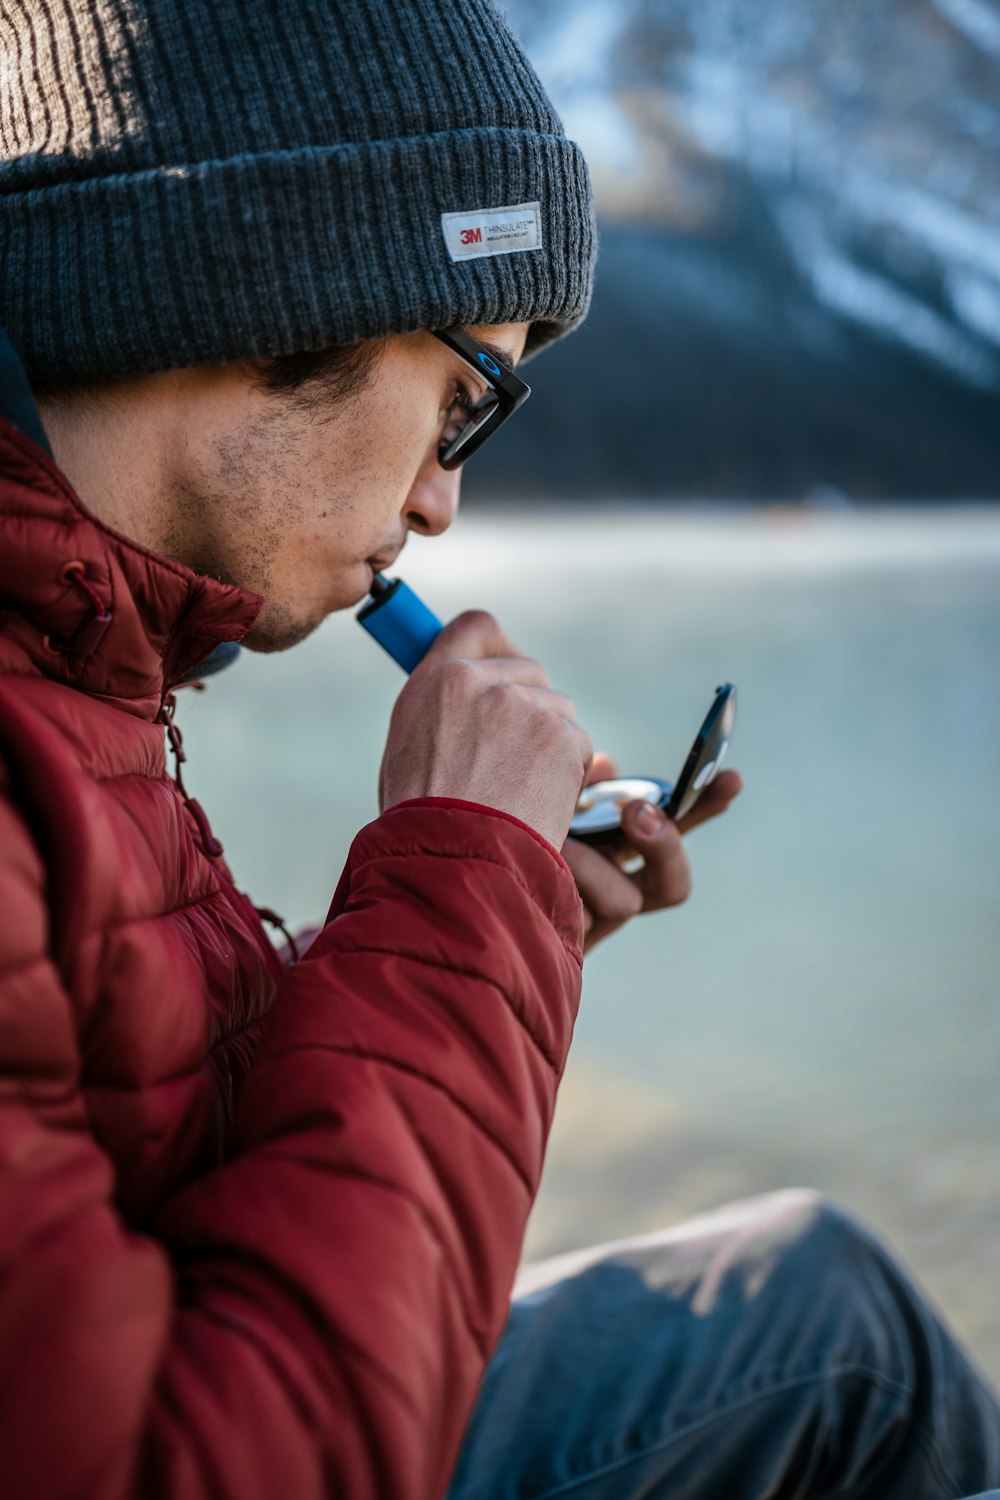
<instances>
[{"instance_id":1,"label":"blurred pale turquoise lake water behind the man","mask_svg":"<svg viewBox=\"0 0 1000 1500\"><path fill-rule=\"evenodd\" d=\"M790 1184L835 1192L1000 1376L1000 513L474 514L415 543L628 772L676 776L718 681L747 790L696 894L600 948L528 1251ZM319 920L399 669L349 616L184 694L240 882Z\"/></svg>"}]
</instances>

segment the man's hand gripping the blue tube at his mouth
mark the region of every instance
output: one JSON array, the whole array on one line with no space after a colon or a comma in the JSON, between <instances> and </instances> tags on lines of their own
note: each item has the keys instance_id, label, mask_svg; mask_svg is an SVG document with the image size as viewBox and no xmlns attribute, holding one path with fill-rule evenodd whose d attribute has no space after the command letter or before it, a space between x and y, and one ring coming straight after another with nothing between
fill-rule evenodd
<instances>
[{"instance_id":1,"label":"man's hand gripping the blue tube at his mouth","mask_svg":"<svg viewBox=\"0 0 1000 1500\"><path fill-rule=\"evenodd\" d=\"M592 756L570 699L492 615L472 610L445 626L396 699L379 806L411 796L481 802L558 849Z\"/></svg>"}]
</instances>

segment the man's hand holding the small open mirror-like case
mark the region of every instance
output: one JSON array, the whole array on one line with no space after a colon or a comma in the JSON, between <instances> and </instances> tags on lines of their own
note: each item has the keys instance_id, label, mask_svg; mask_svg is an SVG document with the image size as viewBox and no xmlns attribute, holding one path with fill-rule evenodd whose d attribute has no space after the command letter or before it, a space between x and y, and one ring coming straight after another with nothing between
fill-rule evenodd
<instances>
[{"instance_id":1,"label":"man's hand holding the small open mirror-like case","mask_svg":"<svg viewBox=\"0 0 1000 1500\"><path fill-rule=\"evenodd\" d=\"M619 776L610 756L595 754L586 786ZM684 848L684 834L724 813L742 790L736 771L720 771L705 788L697 802L679 822L651 807L649 802L627 802L622 808L622 838L600 848L567 838L562 858L567 861L583 897L583 951L618 932L642 912L658 912L679 906L691 894L691 867ZM643 866L627 873L622 866L640 856Z\"/></svg>"}]
</instances>

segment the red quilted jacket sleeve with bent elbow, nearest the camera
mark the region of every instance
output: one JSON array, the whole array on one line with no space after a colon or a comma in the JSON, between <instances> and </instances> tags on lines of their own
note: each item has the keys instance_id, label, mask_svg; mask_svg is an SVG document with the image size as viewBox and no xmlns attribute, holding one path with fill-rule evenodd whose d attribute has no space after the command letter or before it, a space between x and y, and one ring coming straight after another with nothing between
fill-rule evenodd
<instances>
[{"instance_id":1,"label":"red quilted jacket sleeve with bent elbow, nearest the camera","mask_svg":"<svg viewBox=\"0 0 1000 1500\"><path fill-rule=\"evenodd\" d=\"M579 1000L562 861L466 804L366 828L268 1016L235 1158L150 1236L114 1210L43 868L1 801L0 914L3 1492L438 1500Z\"/></svg>"}]
</instances>

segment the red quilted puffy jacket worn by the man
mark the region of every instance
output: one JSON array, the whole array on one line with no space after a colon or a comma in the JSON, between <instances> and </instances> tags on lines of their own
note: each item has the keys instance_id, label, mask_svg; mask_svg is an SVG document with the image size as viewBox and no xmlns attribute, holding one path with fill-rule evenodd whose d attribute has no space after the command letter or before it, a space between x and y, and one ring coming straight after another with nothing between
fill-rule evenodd
<instances>
[{"instance_id":1,"label":"red quilted puffy jacket worn by the man","mask_svg":"<svg viewBox=\"0 0 1000 1500\"><path fill-rule=\"evenodd\" d=\"M0 418L0 1494L435 1500L499 1336L580 984L531 830L363 830L288 975L165 771L255 596Z\"/></svg>"}]
</instances>

